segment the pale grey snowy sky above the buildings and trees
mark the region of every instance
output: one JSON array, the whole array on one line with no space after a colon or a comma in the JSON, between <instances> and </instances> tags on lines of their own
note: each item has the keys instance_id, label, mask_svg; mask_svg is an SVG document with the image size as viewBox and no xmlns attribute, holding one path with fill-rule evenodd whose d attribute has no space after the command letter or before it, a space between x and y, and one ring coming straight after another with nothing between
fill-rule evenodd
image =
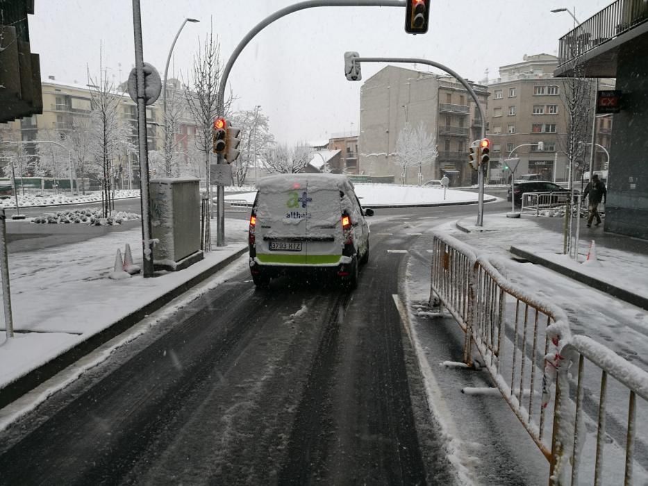
<instances>
[{"instance_id":1,"label":"pale grey snowy sky above the buildings and trees","mask_svg":"<svg viewBox=\"0 0 648 486\"><path fill-rule=\"evenodd\" d=\"M174 49L175 72L186 78L192 55L210 28L219 35L224 58L261 19L296 3L290 0L141 0L144 60L163 73L169 47L185 17L187 24ZM558 38L572 28L567 12L583 22L609 0L452 0L432 1L426 35L404 32L404 8L337 7L297 12L275 22L243 51L229 85L237 108L263 107L270 129L281 142L326 140L331 133L357 130L360 85L344 78L344 51L361 56L428 58L480 81L498 76L497 68L524 54L551 53ZM490 19L490 22L479 19ZM486 27L488 26L488 28ZM32 51L40 53L42 77L84 83L87 66L103 64L115 82L124 81L134 64L133 12L129 0L36 0L30 19ZM119 72L121 63L121 74ZM384 65L363 65L369 78ZM406 66L407 67L407 66ZM420 67L422 70L423 67ZM169 76L171 69L169 69Z\"/></svg>"}]
</instances>

